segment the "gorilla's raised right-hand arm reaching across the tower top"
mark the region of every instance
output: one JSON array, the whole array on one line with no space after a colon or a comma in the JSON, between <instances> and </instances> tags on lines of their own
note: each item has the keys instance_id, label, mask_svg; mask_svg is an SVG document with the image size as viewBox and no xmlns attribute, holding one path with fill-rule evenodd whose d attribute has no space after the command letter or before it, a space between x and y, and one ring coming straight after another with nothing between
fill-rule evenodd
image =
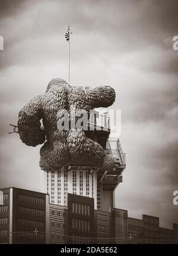
<instances>
[{"instance_id":1,"label":"gorilla's raised right-hand arm reaching across the tower top","mask_svg":"<svg viewBox=\"0 0 178 256\"><path fill-rule=\"evenodd\" d=\"M93 90L85 91L91 108L107 108L115 102L115 90L110 86L97 86Z\"/></svg>"}]
</instances>

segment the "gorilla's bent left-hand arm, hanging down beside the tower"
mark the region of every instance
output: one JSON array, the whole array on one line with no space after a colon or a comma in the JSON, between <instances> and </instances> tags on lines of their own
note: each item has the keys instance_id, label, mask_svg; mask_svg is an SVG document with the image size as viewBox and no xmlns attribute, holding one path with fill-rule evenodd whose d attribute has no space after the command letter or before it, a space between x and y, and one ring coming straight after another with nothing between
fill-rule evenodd
<instances>
[{"instance_id":1,"label":"gorilla's bent left-hand arm, hanging down beside the tower","mask_svg":"<svg viewBox=\"0 0 178 256\"><path fill-rule=\"evenodd\" d=\"M36 96L18 114L18 132L23 143L37 146L45 142L45 133L40 129L42 96Z\"/></svg>"}]
</instances>

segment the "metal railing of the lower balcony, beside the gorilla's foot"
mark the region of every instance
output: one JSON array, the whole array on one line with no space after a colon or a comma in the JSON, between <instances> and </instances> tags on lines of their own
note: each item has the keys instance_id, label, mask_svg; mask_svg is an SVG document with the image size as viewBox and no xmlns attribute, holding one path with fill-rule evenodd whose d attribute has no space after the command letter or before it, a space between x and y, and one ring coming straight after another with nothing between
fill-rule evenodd
<instances>
[{"instance_id":1,"label":"metal railing of the lower balcony, beside the gorilla's foot","mask_svg":"<svg viewBox=\"0 0 178 256\"><path fill-rule=\"evenodd\" d=\"M119 159L120 163L125 164L125 153L122 151L119 139L116 141L107 140L106 149L109 150L109 154Z\"/></svg>"}]
</instances>

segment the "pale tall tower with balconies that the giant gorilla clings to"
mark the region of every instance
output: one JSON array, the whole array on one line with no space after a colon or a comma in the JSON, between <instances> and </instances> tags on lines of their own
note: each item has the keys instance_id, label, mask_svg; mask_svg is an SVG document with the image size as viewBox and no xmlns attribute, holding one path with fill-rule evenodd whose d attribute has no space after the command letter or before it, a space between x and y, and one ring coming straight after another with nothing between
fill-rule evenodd
<instances>
[{"instance_id":1,"label":"pale tall tower with balconies that the giant gorilla clings to","mask_svg":"<svg viewBox=\"0 0 178 256\"><path fill-rule=\"evenodd\" d=\"M71 86L81 90L91 89L84 84ZM90 118L90 127L85 131L88 138L99 143L106 154L112 155L120 161L120 166L113 171L102 171L96 166L68 163L56 171L41 172L41 192L49 193L50 203L68 206L67 193L94 198L94 209L109 212L110 207L115 207L115 189L122 182L122 172L125 169L125 154L119 138L113 141L110 135L110 117L108 111L103 114L100 109L94 111Z\"/></svg>"}]
</instances>

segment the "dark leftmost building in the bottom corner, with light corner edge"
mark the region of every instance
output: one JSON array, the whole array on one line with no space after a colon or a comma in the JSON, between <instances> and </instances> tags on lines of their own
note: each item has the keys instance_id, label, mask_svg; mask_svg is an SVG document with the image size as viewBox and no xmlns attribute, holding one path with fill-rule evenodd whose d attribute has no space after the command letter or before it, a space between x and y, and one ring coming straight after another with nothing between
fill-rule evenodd
<instances>
[{"instance_id":1,"label":"dark leftmost building in the bottom corner, with light corner edge","mask_svg":"<svg viewBox=\"0 0 178 256\"><path fill-rule=\"evenodd\" d=\"M1 189L0 243L47 243L49 196L25 189Z\"/></svg>"}]
</instances>

